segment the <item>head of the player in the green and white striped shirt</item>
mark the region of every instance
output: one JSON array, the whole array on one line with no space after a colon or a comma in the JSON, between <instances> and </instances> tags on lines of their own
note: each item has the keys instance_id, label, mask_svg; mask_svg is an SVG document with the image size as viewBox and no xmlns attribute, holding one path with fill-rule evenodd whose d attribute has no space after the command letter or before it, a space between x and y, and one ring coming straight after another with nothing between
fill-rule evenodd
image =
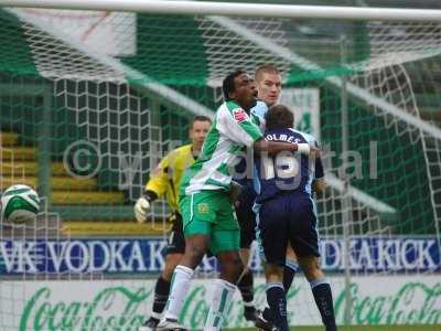
<instances>
[{"instance_id":1,"label":"head of the player in the green and white striped shirt","mask_svg":"<svg viewBox=\"0 0 441 331\"><path fill-rule=\"evenodd\" d=\"M245 110L256 105L255 83L244 71L228 74L222 83L225 100L235 100Z\"/></svg>"}]
</instances>

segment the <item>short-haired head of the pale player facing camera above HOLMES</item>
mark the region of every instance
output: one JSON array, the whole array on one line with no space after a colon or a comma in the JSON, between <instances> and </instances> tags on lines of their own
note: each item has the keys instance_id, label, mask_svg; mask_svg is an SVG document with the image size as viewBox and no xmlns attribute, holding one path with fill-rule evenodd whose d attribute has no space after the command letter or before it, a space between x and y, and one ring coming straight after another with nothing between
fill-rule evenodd
<instances>
[{"instance_id":1,"label":"short-haired head of the pale player facing camera above HOLMES","mask_svg":"<svg viewBox=\"0 0 441 331\"><path fill-rule=\"evenodd\" d=\"M269 64L259 66L255 73L255 82L259 99L268 106L276 105L282 90L282 76L277 67Z\"/></svg>"}]
</instances>

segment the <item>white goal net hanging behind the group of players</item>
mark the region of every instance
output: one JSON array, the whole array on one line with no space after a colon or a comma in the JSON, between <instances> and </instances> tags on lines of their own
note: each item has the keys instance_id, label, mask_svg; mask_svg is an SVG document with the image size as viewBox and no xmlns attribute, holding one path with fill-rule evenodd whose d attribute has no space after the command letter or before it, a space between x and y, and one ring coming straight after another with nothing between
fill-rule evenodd
<instances>
[{"instance_id":1,"label":"white goal net hanging behind the group of players","mask_svg":"<svg viewBox=\"0 0 441 331\"><path fill-rule=\"evenodd\" d=\"M90 248L98 245L92 238L106 234L165 234L163 201L154 204L147 224L135 223L133 203L149 172L169 150L189 142L192 117L213 116L229 72L252 74L270 63L283 76L280 103L293 109L297 126L316 136L324 150L329 188L318 196L319 233L323 268L338 288L338 322L439 322L434 313L390 320L356 314L365 309L361 303L354 303L349 320L344 311L351 308L347 300L357 300L356 277L440 271L440 22L3 8L0 36L0 190L15 183L36 188L47 211L60 217L56 235L40 231L20 241L83 243L86 236ZM23 226L8 224L12 232ZM25 280L60 279L61 273L29 266L41 263L33 257L61 255L41 254L40 244L17 246L18 239L0 234L0 327L26 330L32 328L31 317L23 321L31 300L26 287L35 285ZM71 247L63 243L54 245ZM73 268L62 268L68 281L90 274L86 263L90 258L87 249L73 253ZM252 263L261 270L258 259ZM160 266L114 276L157 276ZM99 269L95 278L110 269ZM291 321L320 323L301 278L290 293ZM130 287L132 280L127 281ZM136 316L123 329L136 330L151 305L151 297L142 298L148 299L133 308L137 312L120 309L131 309L121 302L100 309ZM369 311L381 305L372 303ZM52 320L43 310L31 316L44 324L39 330L50 330L42 314L56 324L75 313L85 319L87 309L78 311L55 311ZM187 325L197 324L185 318Z\"/></svg>"}]
</instances>

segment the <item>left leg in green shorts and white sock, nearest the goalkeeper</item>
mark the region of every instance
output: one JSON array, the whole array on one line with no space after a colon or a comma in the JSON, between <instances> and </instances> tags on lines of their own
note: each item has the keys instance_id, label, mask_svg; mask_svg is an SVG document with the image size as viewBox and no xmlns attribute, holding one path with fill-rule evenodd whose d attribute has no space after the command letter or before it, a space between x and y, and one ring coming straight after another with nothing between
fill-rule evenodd
<instances>
[{"instance_id":1,"label":"left leg in green shorts and white sock, nearest the goalkeeper","mask_svg":"<svg viewBox=\"0 0 441 331\"><path fill-rule=\"evenodd\" d=\"M189 292L194 269L208 249L212 221L215 218L209 194L204 192L183 196L180 210L183 216L185 253L174 269L164 319L159 323L158 330L180 328L178 318Z\"/></svg>"}]
</instances>

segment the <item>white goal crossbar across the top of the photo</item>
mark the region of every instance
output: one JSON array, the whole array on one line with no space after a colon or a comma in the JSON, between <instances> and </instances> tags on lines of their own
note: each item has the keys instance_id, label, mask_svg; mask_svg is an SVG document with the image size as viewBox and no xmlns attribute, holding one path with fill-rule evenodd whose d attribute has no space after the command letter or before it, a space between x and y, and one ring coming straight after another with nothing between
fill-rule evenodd
<instances>
[{"instance_id":1,"label":"white goal crossbar across the top of the photo","mask_svg":"<svg viewBox=\"0 0 441 331\"><path fill-rule=\"evenodd\" d=\"M297 19L441 21L441 10L146 0L0 0L0 7Z\"/></svg>"}]
</instances>

